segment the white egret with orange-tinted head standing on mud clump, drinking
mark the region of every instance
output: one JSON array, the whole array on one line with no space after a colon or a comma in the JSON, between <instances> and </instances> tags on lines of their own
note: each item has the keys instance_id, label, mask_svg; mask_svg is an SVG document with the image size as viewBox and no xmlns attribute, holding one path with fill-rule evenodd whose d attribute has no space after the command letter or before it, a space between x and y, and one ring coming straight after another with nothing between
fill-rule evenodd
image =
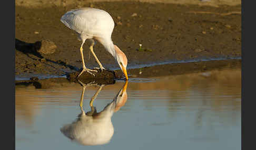
<instances>
[{"instance_id":1,"label":"white egret with orange-tinted head standing on mud clump, drinking","mask_svg":"<svg viewBox=\"0 0 256 150\"><path fill-rule=\"evenodd\" d=\"M82 56L83 70L81 71L80 74L78 74L77 78L84 71L90 74L93 74L91 71L96 71L96 70L91 70L86 68L84 64L83 44L86 39L90 39L92 41L90 50L94 58L96 59L97 63L99 64L100 69L101 70L105 69L101 65L101 62L96 57L93 51L93 46L94 46L93 39L96 39L115 58L122 72L124 73L126 80L128 80L127 71L126 71L127 58L124 52L120 50L119 47L113 44L113 41L111 39L111 35L114 29L114 21L109 13L105 12L104 10L96 9L96 8L73 9L68 11L61 17L61 22L65 24L68 28L75 30L75 32L78 34L78 39L82 41L80 52Z\"/></svg>"}]
</instances>

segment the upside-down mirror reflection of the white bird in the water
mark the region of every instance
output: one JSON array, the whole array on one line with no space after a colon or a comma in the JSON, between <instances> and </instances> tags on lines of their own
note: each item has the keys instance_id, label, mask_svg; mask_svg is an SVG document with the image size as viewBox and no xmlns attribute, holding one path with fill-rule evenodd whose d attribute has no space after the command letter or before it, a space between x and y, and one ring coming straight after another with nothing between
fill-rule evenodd
<instances>
[{"instance_id":1,"label":"upside-down mirror reflection of the white bird in the water","mask_svg":"<svg viewBox=\"0 0 256 150\"><path fill-rule=\"evenodd\" d=\"M114 127L111 117L114 112L118 111L126 102L127 94L126 88L128 81L125 82L123 88L117 93L112 102L107 104L101 112L96 112L93 106L93 101L96 99L97 94L101 91L104 85L101 85L94 96L91 98L90 106L91 111L85 113L83 110L83 98L85 88L94 84L83 84L83 91L81 95L80 107L82 113L78 115L76 121L71 124L64 125L61 132L82 145L101 145L109 143L113 134Z\"/></svg>"}]
</instances>

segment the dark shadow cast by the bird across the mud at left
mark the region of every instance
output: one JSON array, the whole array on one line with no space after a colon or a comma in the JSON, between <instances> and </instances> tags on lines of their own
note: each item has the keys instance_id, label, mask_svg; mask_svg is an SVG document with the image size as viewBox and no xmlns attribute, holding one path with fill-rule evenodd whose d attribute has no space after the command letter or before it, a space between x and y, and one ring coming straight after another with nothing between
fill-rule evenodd
<instances>
[{"instance_id":1,"label":"dark shadow cast by the bird across the mud at left","mask_svg":"<svg viewBox=\"0 0 256 150\"><path fill-rule=\"evenodd\" d=\"M34 55L34 56L36 56L36 57L38 57L40 59L44 58L41 55L41 53L38 52L38 50L40 50L41 47L42 47L42 41L36 41L34 43L28 43L28 42L21 41L21 40L15 38L15 48L16 48L16 50L23 52L25 55L27 55L27 57L29 57L29 58L31 58L33 60L37 60L37 59L32 58L31 56L29 56L29 54L32 54L32 55ZM66 68L70 68L71 70L75 70L75 71L79 71L80 70L80 69L78 69L75 66L67 65L66 62L61 61L61 60L53 61L53 60L46 59L46 58L45 58L45 60L46 60L46 62L47 61L48 62L52 62L52 63L55 63L57 65L64 66ZM49 65L49 64L46 64L46 65ZM53 66L51 66L51 67L53 67Z\"/></svg>"}]
</instances>

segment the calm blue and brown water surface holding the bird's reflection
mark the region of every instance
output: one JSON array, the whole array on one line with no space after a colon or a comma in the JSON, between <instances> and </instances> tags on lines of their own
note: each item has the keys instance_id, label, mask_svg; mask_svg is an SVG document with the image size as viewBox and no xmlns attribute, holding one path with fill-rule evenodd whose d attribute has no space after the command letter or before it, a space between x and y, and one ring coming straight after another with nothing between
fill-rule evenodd
<instances>
[{"instance_id":1,"label":"calm blue and brown water surface holding the bird's reflection","mask_svg":"<svg viewBox=\"0 0 256 150\"><path fill-rule=\"evenodd\" d=\"M241 149L240 68L88 85L84 94L76 83L16 87L15 101L15 149Z\"/></svg>"}]
</instances>

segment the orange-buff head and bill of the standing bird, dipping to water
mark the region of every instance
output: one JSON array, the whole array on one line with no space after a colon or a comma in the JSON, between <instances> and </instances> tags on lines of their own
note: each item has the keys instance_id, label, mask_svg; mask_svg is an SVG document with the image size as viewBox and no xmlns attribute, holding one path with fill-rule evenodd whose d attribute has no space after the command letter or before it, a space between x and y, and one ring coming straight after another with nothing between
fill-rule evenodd
<instances>
[{"instance_id":1,"label":"orange-buff head and bill of the standing bird, dipping to water","mask_svg":"<svg viewBox=\"0 0 256 150\"><path fill-rule=\"evenodd\" d=\"M124 73L124 76L126 80L128 80L126 66L127 66L127 58L122 50L120 50L116 45L114 45L115 48L115 60L117 61L119 67L121 68L122 72Z\"/></svg>"}]
</instances>

